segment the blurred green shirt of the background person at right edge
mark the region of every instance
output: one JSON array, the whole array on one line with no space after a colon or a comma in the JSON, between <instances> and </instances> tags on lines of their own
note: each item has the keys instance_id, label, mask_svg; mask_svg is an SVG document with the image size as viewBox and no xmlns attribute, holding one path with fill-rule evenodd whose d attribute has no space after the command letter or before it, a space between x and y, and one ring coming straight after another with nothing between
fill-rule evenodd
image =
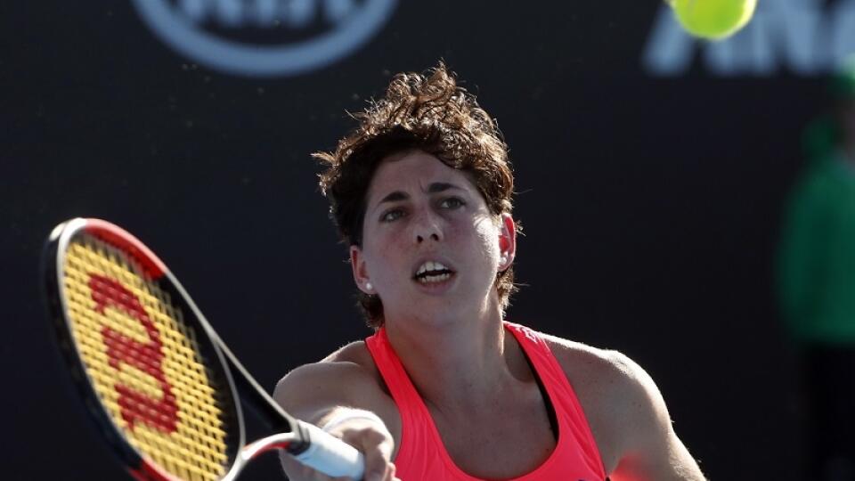
<instances>
[{"instance_id":1,"label":"blurred green shirt of the background person at right edge","mask_svg":"<svg viewBox=\"0 0 855 481\"><path fill-rule=\"evenodd\" d=\"M778 261L794 338L855 344L855 162L842 152L817 159L796 186Z\"/></svg>"}]
</instances>

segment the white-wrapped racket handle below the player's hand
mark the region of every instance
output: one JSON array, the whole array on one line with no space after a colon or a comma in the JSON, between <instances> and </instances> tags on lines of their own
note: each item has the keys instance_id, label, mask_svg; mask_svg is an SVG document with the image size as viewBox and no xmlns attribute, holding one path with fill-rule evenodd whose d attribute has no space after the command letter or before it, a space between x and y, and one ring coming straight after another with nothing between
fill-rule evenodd
<instances>
[{"instance_id":1,"label":"white-wrapped racket handle below the player's hand","mask_svg":"<svg viewBox=\"0 0 855 481\"><path fill-rule=\"evenodd\" d=\"M294 457L310 468L331 477L362 479L365 459L362 452L338 437L330 436L314 424L297 420L299 430L309 442L309 447Z\"/></svg>"}]
</instances>

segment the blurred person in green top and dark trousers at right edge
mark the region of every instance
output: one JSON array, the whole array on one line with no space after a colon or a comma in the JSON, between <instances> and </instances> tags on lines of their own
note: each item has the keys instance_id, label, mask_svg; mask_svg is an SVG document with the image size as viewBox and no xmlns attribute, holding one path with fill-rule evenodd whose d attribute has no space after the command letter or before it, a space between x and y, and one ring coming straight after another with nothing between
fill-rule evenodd
<instances>
[{"instance_id":1,"label":"blurred person in green top and dark trousers at right edge","mask_svg":"<svg viewBox=\"0 0 855 481\"><path fill-rule=\"evenodd\" d=\"M805 131L809 159L786 206L782 314L802 363L804 479L855 480L855 56L832 108Z\"/></svg>"}]
</instances>

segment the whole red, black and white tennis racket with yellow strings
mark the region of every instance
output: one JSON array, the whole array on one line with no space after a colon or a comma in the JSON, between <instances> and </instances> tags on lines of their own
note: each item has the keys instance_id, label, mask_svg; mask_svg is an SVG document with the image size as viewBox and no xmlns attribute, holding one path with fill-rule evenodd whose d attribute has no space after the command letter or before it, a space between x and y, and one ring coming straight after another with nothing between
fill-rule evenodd
<instances>
[{"instance_id":1,"label":"whole red, black and white tennis racket with yellow strings","mask_svg":"<svg viewBox=\"0 0 855 481\"><path fill-rule=\"evenodd\" d=\"M134 236L73 219L51 233L44 265L72 377L136 479L231 480L272 449L332 477L362 478L362 453L284 412ZM238 393L277 434L245 444Z\"/></svg>"}]
</instances>

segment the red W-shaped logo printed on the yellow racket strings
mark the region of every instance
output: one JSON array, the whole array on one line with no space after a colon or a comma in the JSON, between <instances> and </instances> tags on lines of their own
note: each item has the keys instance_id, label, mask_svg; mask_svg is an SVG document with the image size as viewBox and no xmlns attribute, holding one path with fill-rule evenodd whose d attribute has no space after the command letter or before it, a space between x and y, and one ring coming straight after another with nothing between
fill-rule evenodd
<instances>
[{"instance_id":1,"label":"red W-shaped logo printed on the yellow racket strings","mask_svg":"<svg viewBox=\"0 0 855 481\"><path fill-rule=\"evenodd\" d=\"M89 289L92 290L95 311L104 314L107 307L121 309L139 321L149 335L150 341L143 344L110 327L105 326L101 331L104 344L107 345L110 366L118 370L119 363L126 363L143 371L157 379L163 392L161 399L154 399L117 383L115 388L119 395L118 405L121 407L122 419L126 420L132 430L139 421L164 433L174 432L178 424L178 405L175 404L175 395L172 394L172 387L163 372L163 344L160 342L160 332L142 308L139 298L115 279L90 274Z\"/></svg>"}]
</instances>

